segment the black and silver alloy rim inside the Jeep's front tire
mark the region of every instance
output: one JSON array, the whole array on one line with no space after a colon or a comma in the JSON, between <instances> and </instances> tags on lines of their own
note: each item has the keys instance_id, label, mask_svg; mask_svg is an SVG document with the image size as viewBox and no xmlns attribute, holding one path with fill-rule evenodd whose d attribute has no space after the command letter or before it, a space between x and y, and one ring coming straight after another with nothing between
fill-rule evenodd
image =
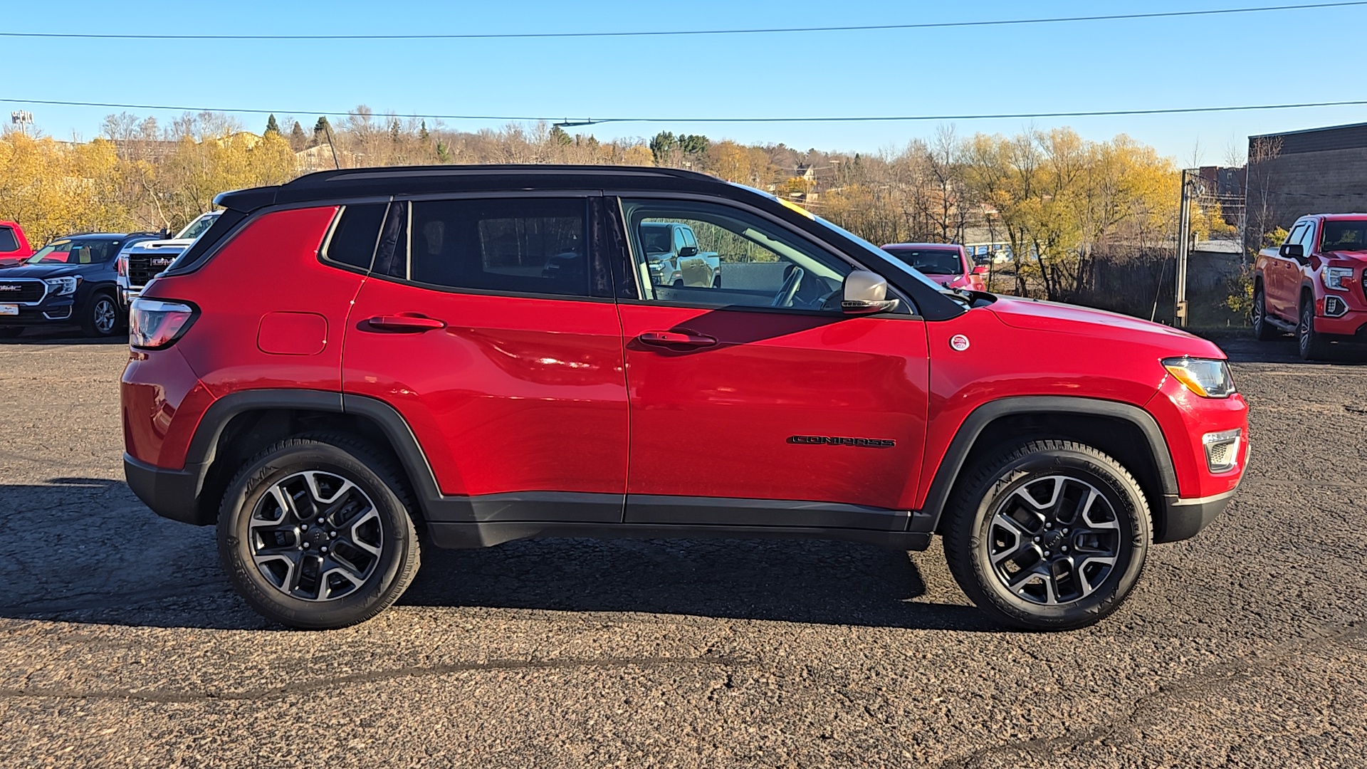
<instances>
[{"instance_id":1,"label":"black and silver alloy rim inside the Jeep's front tire","mask_svg":"<svg viewBox=\"0 0 1367 769\"><path fill-rule=\"evenodd\" d=\"M1121 523L1106 495L1072 476L1035 478L1007 495L987 530L997 579L1023 601L1091 595L1120 558Z\"/></svg>"}]
</instances>

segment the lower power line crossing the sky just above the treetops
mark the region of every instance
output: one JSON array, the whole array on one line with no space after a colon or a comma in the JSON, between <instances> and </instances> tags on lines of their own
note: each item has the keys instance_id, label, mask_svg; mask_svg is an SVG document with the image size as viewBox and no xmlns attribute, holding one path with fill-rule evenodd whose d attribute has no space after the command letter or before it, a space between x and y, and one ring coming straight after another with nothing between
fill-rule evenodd
<instances>
[{"instance_id":1,"label":"lower power line crossing the sky just above the treetops","mask_svg":"<svg viewBox=\"0 0 1367 769\"><path fill-rule=\"evenodd\" d=\"M0 99L4 104L48 104L59 107L107 107L115 109L153 109L171 112L228 112L245 115L328 115L343 118L349 111L332 109L236 109L224 107L171 107L164 104L119 104L112 101L53 101L34 99ZM1170 107L1161 109L1087 109L1073 112L1002 112L965 115L865 115L865 116L813 116L813 118L558 118L551 115L394 115L395 118L424 118L436 120L510 120L510 122L559 122L567 126L592 126L596 123L878 123L916 120L1002 120L1033 118L1105 118L1118 115L1185 115L1195 112L1251 112L1258 109L1303 109L1311 107L1362 107L1367 100L1353 101L1307 101L1300 104L1244 104L1233 107ZM388 118L390 115L381 115Z\"/></svg>"}]
</instances>

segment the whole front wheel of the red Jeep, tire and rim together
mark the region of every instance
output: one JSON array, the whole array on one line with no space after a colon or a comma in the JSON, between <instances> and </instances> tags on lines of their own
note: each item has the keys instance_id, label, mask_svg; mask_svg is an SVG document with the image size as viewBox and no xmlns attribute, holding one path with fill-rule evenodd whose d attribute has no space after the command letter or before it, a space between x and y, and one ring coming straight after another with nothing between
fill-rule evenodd
<instances>
[{"instance_id":1,"label":"whole front wheel of the red Jeep, tire and rim together","mask_svg":"<svg viewBox=\"0 0 1367 769\"><path fill-rule=\"evenodd\" d=\"M994 618L1027 629L1083 628L1114 612L1139 582L1152 521L1139 483L1111 457L1072 441L1031 441L964 478L943 531L945 558Z\"/></svg>"}]
</instances>

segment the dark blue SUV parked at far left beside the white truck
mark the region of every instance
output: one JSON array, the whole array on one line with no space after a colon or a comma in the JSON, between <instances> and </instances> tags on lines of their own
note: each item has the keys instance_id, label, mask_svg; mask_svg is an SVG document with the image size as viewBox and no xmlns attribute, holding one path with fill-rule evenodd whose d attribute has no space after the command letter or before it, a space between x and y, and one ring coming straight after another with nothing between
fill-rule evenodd
<instances>
[{"instance_id":1,"label":"dark blue SUV parked at far left beside the white truck","mask_svg":"<svg viewBox=\"0 0 1367 769\"><path fill-rule=\"evenodd\" d=\"M119 250L152 234L92 233L57 238L16 267L0 270L0 338L33 326L79 326L111 337L127 319L116 298Z\"/></svg>"}]
</instances>

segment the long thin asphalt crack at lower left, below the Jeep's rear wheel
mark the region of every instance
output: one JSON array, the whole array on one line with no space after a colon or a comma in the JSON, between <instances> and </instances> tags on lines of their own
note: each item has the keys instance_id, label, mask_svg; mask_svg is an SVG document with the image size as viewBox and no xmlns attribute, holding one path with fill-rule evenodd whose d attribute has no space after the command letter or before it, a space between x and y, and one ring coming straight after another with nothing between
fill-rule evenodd
<instances>
[{"instance_id":1,"label":"long thin asphalt crack at lower left, below the Jeep's rear wheel","mask_svg":"<svg viewBox=\"0 0 1367 769\"><path fill-rule=\"evenodd\" d=\"M730 657L608 657L601 660L491 660L488 662L451 662L447 665L405 666L388 670L370 670L351 676L336 676L312 681L299 681L282 687L246 691L174 691L174 690L92 690L75 688L0 688L5 699L123 699L141 702L236 702L282 699L294 694L308 694L323 688L346 684L368 684L395 679L446 676L463 672L489 670L559 670L573 668L662 668L668 665L707 665L718 668L738 668L753 665L753 661Z\"/></svg>"}]
</instances>

